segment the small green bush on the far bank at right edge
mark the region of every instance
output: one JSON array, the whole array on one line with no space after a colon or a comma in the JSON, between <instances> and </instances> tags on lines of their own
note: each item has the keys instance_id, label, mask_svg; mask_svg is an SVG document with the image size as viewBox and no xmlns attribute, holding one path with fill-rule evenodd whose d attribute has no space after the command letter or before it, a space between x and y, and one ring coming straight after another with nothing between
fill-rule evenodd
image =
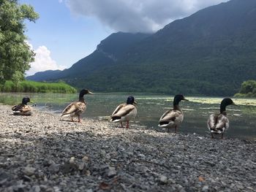
<instances>
[{"instance_id":1,"label":"small green bush on the far bank at right edge","mask_svg":"<svg viewBox=\"0 0 256 192\"><path fill-rule=\"evenodd\" d=\"M247 80L241 84L239 93L235 94L236 97L256 97L256 81Z\"/></svg>"}]
</instances>

